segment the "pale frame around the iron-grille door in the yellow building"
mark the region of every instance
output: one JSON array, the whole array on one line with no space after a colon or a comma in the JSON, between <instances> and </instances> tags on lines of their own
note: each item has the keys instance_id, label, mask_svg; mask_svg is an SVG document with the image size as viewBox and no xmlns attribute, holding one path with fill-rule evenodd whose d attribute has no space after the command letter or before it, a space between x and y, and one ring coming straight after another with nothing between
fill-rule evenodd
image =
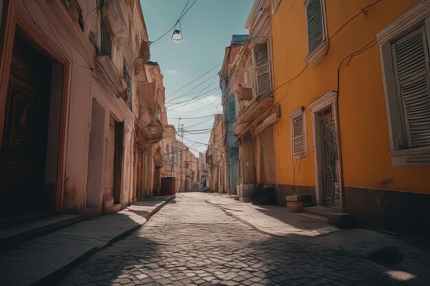
<instances>
[{"instance_id":1,"label":"pale frame around the iron-grille door in the yellow building","mask_svg":"<svg viewBox=\"0 0 430 286\"><path fill-rule=\"evenodd\" d=\"M309 104L310 115L313 130L313 151L315 160L315 195L317 204L324 204L324 174L323 174L323 158L321 152L321 116L319 113L326 108L332 108L333 119L335 120L336 146L339 160L337 161L337 176L339 178L339 189L341 192L341 208L344 208L343 203L343 176L342 176L342 161L341 161L341 146L339 139L339 117L337 114L337 92L329 91L322 95L312 104Z\"/></svg>"}]
</instances>

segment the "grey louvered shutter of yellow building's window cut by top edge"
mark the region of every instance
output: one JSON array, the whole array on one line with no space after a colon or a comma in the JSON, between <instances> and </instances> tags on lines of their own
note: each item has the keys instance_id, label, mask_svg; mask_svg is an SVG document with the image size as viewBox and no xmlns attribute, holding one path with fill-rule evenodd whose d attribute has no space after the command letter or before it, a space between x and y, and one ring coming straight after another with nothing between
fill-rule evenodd
<instances>
[{"instance_id":1,"label":"grey louvered shutter of yellow building's window cut by top edge","mask_svg":"<svg viewBox=\"0 0 430 286\"><path fill-rule=\"evenodd\" d=\"M308 20L308 51L313 52L324 38L321 0L310 0L306 5Z\"/></svg>"}]
</instances>

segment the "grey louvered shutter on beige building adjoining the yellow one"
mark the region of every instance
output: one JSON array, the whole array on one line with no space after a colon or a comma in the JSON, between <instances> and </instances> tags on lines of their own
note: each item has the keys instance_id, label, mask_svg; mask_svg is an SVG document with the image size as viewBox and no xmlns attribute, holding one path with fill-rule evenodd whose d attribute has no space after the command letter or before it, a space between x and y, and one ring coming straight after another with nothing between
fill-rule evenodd
<instances>
[{"instance_id":1,"label":"grey louvered shutter on beige building adjoining the yellow one","mask_svg":"<svg viewBox=\"0 0 430 286\"><path fill-rule=\"evenodd\" d=\"M257 94L260 96L271 90L267 44L258 45L255 51L257 68Z\"/></svg>"}]
</instances>

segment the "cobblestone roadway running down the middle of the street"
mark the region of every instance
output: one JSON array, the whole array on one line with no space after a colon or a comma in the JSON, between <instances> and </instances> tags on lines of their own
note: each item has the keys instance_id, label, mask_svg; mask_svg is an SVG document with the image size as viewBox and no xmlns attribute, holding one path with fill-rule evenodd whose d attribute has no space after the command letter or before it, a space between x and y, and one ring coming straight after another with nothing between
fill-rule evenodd
<instances>
[{"instance_id":1,"label":"cobblestone roadway running down the middle of the street","mask_svg":"<svg viewBox=\"0 0 430 286\"><path fill-rule=\"evenodd\" d=\"M273 237L206 204L207 195L177 195L144 228L58 285L430 285L429 264L400 271L355 247L377 232Z\"/></svg>"}]
</instances>

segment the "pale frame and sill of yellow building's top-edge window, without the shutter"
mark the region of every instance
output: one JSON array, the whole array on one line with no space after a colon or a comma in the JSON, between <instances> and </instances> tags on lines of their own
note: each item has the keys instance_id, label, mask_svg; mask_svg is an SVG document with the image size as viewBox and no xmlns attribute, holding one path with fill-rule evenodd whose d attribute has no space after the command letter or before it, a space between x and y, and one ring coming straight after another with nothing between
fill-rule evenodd
<instances>
[{"instance_id":1,"label":"pale frame and sill of yellow building's top-edge window, without the shutter","mask_svg":"<svg viewBox=\"0 0 430 286\"><path fill-rule=\"evenodd\" d=\"M309 52L309 40L308 40L308 5L311 1L321 1L321 10L322 10L322 26L323 26L323 39L321 43L311 52ZM306 14L306 38L308 41L308 56L304 58L305 62L309 64L311 67L316 67L321 60L323 60L328 53L329 48L329 40L328 40L328 32L327 32L327 16L326 16L326 0L304 0L303 1L305 14Z\"/></svg>"}]
</instances>

